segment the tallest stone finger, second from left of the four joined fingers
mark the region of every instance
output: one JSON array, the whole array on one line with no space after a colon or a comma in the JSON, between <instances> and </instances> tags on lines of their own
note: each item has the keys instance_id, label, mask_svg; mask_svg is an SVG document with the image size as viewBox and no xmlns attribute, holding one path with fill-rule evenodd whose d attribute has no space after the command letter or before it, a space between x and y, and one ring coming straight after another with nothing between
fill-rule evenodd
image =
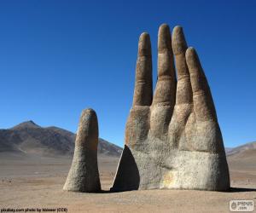
<instances>
[{"instance_id":1,"label":"tallest stone finger, second from left of the four joined fingers","mask_svg":"<svg viewBox=\"0 0 256 213\"><path fill-rule=\"evenodd\" d=\"M169 26L163 24L158 32L158 79L150 115L150 134L166 140L176 95L176 76Z\"/></svg>"}]
</instances>

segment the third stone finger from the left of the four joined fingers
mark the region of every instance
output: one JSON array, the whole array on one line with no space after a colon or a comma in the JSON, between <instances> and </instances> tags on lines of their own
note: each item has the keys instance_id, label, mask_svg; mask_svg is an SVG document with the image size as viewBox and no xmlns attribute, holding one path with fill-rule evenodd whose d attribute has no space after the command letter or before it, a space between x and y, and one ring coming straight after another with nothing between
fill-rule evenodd
<instances>
[{"instance_id":1,"label":"third stone finger from the left of the four joined fingers","mask_svg":"<svg viewBox=\"0 0 256 213\"><path fill-rule=\"evenodd\" d=\"M192 89L185 57L188 46L181 26L175 26L173 29L172 49L175 55L175 65L177 70L176 105L192 103Z\"/></svg>"}]
</instances>

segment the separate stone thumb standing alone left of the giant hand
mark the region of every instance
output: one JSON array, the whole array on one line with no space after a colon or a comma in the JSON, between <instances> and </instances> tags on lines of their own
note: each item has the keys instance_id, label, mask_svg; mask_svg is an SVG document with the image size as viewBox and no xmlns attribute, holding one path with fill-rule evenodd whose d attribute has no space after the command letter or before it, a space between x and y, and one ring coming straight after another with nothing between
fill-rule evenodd
<instances>
[{"instance_id":1,"label":"separate stone thumb standing alone left of the giant hand","mask_svg":"<svg viewBox=\"0 0 256 213\"><path fill-rule=\"evenodd\" d=\"M64 190L90 193L101 190L97 164L98 121L96 112L85 109L80 117L73 162Z\"/></svg>"}]
</instances>

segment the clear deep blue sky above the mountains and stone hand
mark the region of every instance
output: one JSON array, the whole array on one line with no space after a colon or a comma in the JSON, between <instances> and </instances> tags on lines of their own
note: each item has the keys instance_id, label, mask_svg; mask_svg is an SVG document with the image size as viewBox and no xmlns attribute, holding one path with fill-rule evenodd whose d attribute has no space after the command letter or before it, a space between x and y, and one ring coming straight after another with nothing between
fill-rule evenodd
<instances>
[{"instance_id":1,"label":"clear deep blue sky above the mountains and stone hand","mask_svg":"<svg viewBox=\"0 0 256 213\"><path fill-rule=\"evenodd\" d=\"M123 146L137 40L183 26L212 89L226 147L256 140L256 1L0 1L0 128L26 120L76 131L92 107Z\"/></svg>"}]
</instances>

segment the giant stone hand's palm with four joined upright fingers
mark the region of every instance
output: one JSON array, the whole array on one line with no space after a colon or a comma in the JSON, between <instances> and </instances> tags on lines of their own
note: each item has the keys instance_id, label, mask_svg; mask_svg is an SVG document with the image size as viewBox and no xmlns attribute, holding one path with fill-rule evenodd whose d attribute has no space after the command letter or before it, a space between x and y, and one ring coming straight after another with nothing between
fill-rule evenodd
<instances>
[{"instance_id":1,"label":"giant stone hand's palm with four joined upright fingers","mask_svg":"<svg viewBox=\"0 0 256 213\"><path fill-rule=\"evenodd\" d=\"M154 96L152 90L151 44L144 32L125 148L112 190L228 190L229 168L211 91L181 26L172 36L169 26L160 26Z\"/></svg>"}]
</instances>

